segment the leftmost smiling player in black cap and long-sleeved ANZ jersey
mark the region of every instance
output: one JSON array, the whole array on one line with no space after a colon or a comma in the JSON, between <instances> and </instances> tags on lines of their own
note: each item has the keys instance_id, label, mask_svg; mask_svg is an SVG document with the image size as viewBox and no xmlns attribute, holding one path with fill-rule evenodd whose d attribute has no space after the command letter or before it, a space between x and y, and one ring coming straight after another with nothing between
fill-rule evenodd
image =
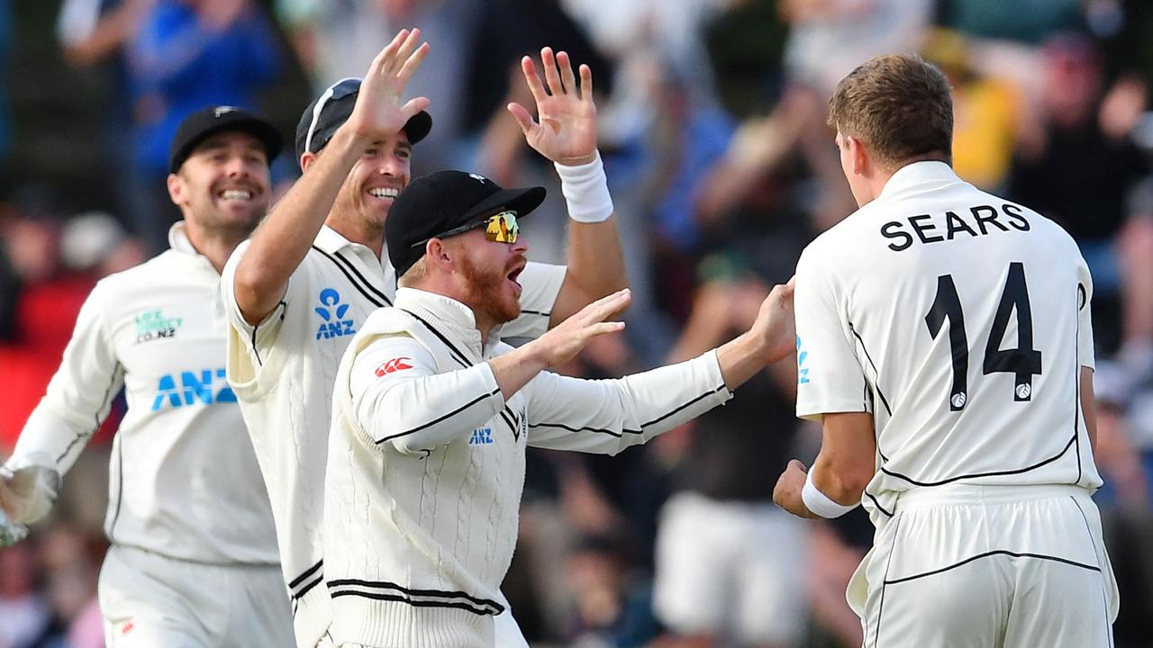
<instances>
[{"instance_id":1,"label":"leftmost smiling player in black cap and long-sleeved ANZ jersey","mask_svg":"<svg viewBox=\"0 0 1153 648\"><path fill-rule=\"evenodd\" d=\"M99 601L110 647L279 648L292 642L272 511L225 380L220 270L269 204L280 135L246 111L188 116L168 195L172 249L103 279L47 393L0 470L9 537L47 513L60 475L121 386Z\"/></svg>"}]
</instances>

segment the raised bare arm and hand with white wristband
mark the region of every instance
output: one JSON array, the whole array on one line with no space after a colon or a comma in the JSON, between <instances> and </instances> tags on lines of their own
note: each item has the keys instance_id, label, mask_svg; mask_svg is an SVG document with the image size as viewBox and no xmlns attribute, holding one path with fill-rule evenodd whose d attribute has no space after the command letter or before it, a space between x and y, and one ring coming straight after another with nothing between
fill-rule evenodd
<instances>
[{"instance_id":1,"label":"raised bare arm and hand with white wristband","mask_svg":"<svg viewBox=\"0 0 1153 648\"><path fill-rule=\"evenodd\" d=\"M566 52L541 50L544 82L528 56L521 71L536 101L535 121L527 108L508 104L529 146L556 164L572 219L568 229L568 271L552 304L550 326L586 304L628 285L620 235L601 156L596 150L596 105L593 71L580 66L580 82Z\"/></svg>"}]
</instances>

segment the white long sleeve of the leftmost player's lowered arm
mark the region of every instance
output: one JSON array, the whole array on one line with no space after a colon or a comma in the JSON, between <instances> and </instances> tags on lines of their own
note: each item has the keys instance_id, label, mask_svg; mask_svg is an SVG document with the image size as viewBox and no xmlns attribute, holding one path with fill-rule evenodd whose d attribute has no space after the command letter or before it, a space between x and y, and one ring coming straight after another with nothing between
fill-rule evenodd
<instances>
[{"instance_id":1,"label":"white long sleeve of the leftmost player's lowered arm","mask_svg":"<svg viewBox=\"0 0 1153 648\"><path fill-rule=\"evenodd\" d=\"M67 473L108 415L123 369L105 331L101 295L97 286L81 308L60 368L24 423L9 468L44 466Z\"/></svg>"}]
</instances>

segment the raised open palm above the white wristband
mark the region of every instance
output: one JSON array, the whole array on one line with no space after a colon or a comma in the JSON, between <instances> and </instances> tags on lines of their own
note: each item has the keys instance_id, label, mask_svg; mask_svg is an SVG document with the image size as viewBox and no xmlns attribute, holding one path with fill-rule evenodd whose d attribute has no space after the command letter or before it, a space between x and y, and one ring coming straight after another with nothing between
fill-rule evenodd
<instances>
[{"instance_id":1,"label":"raised open palm above the white wristband","mask_svg":"<svg viewBox=\"0 0 1153 648\"><path fill-rule=\"evenodd\" d=\"M555 163L580 165L596 156L596 106L593 104L593 71L580 66L580 83L573 75L567 52L552 55L551 47L541 50L544 83L533 59L520 61L525 82L536 101L540 122L525 106L512 101L508 112L520 123L528 145ZM545 90L545 83L548 90Z\"/></svg>"}]
</instances>

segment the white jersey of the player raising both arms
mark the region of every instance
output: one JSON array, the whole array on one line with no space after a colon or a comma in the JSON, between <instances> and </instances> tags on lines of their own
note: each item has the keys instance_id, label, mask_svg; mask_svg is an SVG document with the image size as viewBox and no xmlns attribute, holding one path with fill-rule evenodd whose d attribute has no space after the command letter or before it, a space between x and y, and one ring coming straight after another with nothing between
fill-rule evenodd
<instances>
[{"instance_id":1,"label":"white jersey of the player raising both arms","mask_svg":"<svg viewBox=\"0 0 1153 648\"><path fill-rule=\"evenodd\" d=\"M227 376L240 400L272 502L280 558L294 604L299 646L316 646L329 627L321 522L332 387L349 340L377 308L392 306L395 271L368 247L324 226L293 272L280 304L256 326L236 306L242 243L224 270L232 330ZM529 263L520 276L522 316L510 337L548 330L563 266Z\"/></svg>"}]
</instances>

